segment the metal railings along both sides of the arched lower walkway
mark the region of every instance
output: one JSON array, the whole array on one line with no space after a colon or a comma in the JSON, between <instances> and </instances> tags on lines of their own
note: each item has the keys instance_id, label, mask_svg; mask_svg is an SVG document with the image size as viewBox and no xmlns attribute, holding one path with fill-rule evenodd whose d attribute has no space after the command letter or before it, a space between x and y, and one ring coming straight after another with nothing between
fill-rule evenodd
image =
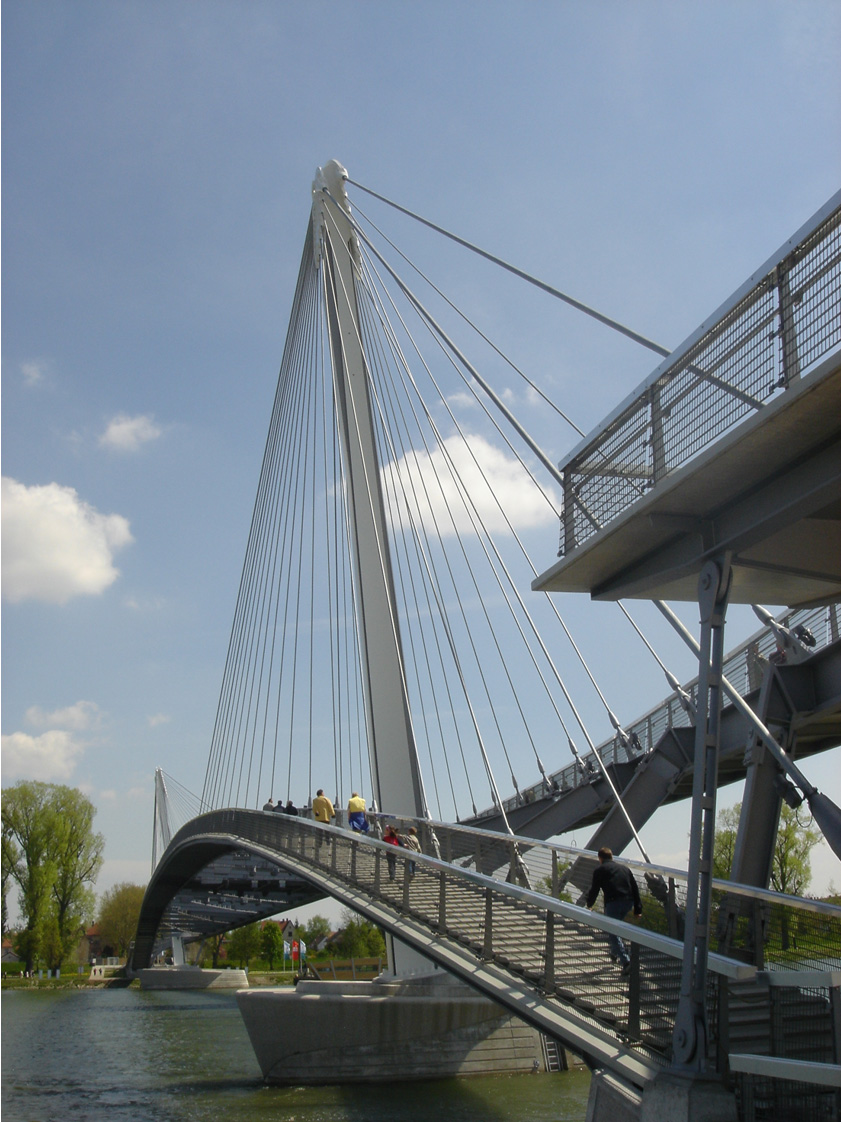
<instances>
[{"instance_id":1,"label":"metal railings along both sides of the arched lower walkway","mask_svg":"<svg viewBox=\"0 0 841 1122\"><path fill-rule=\"evenodd\" d=\"M400 938L412 941L425 931L424 953L440 955L447 968L461 963L463 976L473 977L479 960L489 995L496 982L498 1000L500 993L511 1002L525 994L532 1008L537 996L543 1030L548 1023L557 1033L566 1026L570 1047L575 1048L575 1033L590 1041L591 1055L621 1046L649 1074L651 1065L669 1061L683 957L683 873L628 862L640 886L643 917L638 925L625 923L558 896L563 868L592 861L592 853L391 818L401 831L410 825L418 830L424 852L416 854L377 838L383 818L375 820L372 837L363 837L283 815L218 810L187 824L172 849L193 839L202 846L212 835L239 837L244 852L274 855L338 899L348 902L352 895L357 907L379 907L380 921L386 917ZM743 1000L739 987L756 988L757 964L784 969L793 992L808 971L841 968L841 908L727 882L715 882L715 896L713 922L724 953L710 956L708 1013L711 1063L724 1070L732 1050L731 1009ZM629 976L610 965L611 934L630 948ZM465 956L473 966L464 966ZM768 1020L765 1009L761 1020Z\"/></svg>"}]
</instances>

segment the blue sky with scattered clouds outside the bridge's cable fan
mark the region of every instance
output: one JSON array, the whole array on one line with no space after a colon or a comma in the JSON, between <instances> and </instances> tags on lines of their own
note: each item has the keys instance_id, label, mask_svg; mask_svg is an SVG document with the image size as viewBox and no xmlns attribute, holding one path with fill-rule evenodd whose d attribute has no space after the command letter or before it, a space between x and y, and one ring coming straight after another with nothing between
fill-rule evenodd
<instances>
[{"instance_id":1,"label":"blue sky with scattered clouds outside the bridge's cable fan","mask_svg":"<svg viewBox=\"0 0 841 1122\"><path fill-rule=\"evenodd\" d=\"M201 790L316 167L673 347L838 190L840 110L832 0L3 0L2 782L89 794L99 892L148 879L155 767ZM657 365L464 284L584 431Z\"/></svg>"}]
</instances>

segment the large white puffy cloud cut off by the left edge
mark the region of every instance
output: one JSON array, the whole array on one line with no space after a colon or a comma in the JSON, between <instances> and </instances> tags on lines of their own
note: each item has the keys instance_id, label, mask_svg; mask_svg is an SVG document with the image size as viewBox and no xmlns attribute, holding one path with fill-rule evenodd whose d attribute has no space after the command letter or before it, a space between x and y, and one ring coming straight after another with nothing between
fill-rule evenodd
<instances>
[{"instance_id":1,"label":"large white puffy cloud cut off by the left edge","mask_svg":"<svg viewBox=\"0 0 841 1122\"><path fill-rule=\"evenodd\" d=\"M133 541L128 519L100 514L72 487L2 480L3 597L66 604L98 596L119 570L114 553Z\"/></svg>"}]
</instances>

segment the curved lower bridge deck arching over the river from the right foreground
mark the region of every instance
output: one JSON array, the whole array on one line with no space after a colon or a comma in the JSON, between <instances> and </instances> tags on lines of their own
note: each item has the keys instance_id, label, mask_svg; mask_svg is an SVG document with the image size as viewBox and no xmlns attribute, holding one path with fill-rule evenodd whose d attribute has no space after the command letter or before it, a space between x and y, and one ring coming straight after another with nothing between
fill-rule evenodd
<instances>
[{"instance_id":1,"label":"curved lower bridge deck arching over the river from the right foreground","mask_svg":"<svg viewBox=\"0 0 841 1122\"><path fill-rule=\"evenodd\" d=\"M425 850L441 856L414 856L372 838L260 811L222 810L194 819L174 838L147 892L135 966L144 965L177 882L186 882L214 854L239 850L294 868L314 889L367 916L594 1066L641 1086L668 1064L683 945L662 934L668 925L655 894L645 893L646 927L618 923L512 883L511 877L551 884L552 868L557 873L553 847L437 824L423 824L423 835ZM460 853L469 855L466 864ZM547 854L552 866L543 877ZM509 880L495 879L489 870ZM645 891L645 881L643 886ZM791 912L783 926L791 930L796 921L801 957L804 947L814 950L817 938L820 954L841 966L841 909L775 901L773 893L758 890L747 899L761 903L766 935L780 927L775 907ZM746 901L729 907L749 941ZM821 925L822 934L815 935ZM610 962L610 931L621 932L632 947L630 976ZM743 954L746 945L737 939L733 948ZM745 1009L752 1008L755 1021L757 1010L759 1022L767 1020L764 988L754 966L711 956L708 1005L714 1061L726 1063L731 1009L743 1019ZM821 1002L826 1004L819 996ZM823 1048L829 1061L825 1052Z\"/></svg>"}]
</instances>

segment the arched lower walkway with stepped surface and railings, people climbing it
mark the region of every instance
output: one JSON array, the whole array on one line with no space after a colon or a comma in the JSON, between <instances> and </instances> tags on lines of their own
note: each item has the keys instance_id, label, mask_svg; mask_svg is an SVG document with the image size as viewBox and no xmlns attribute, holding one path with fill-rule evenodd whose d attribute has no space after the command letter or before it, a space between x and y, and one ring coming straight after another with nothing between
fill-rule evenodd
<instances>
[{"instance_id":1,"label":"arched lower walkway with stepped surface and railings, people climbing it","mask_svg":"<svg viewBox=\"0 0 841 1122\"><path fill-rule=\"evenodd\" d=\"M417 826L419 856L278 813L202 815L173 838L153 876L132 965L148 964L176 895L184 925L191 879L237 854L274 867L279 880L294 873L315 896L332 895L591 1066L643 1086L668 1065L683 957L682 874L629 862L644 916L639 926L627 925L558 899L563 870L584 856L580 850L438 822ZM710 957L713 1066L723 1069L732 1052L786 1055L783 1028L789 1056L835 1061L828 1019L841 984L841 909L723 882L715 894L721 953ZM205 921L205 901L197 903ZM610 963L610 931L631 945L629 977ZM797 1001L788 1008L784 1000L775 1029L770 1010L779 994Z\"/></svg>"}]
</instances>

